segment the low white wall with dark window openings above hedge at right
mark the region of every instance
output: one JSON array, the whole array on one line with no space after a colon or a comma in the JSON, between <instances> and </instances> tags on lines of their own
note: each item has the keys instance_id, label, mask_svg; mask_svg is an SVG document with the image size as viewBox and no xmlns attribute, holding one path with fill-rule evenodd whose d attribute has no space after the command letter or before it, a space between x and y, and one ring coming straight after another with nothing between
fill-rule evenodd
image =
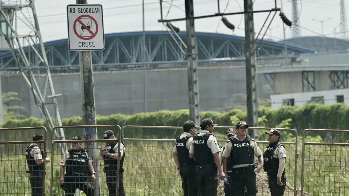
<instances>
[{"instance_id":1,"label":"low white wall with dark window openings above hedge at right","mask_svg":"<svg viewBox=\"0 0 349 196\"><path fill-rule=\"evenodd\" d=\"M325 104L337 103L337 95L344 96L344 103L349 104L349 91L348 89L336 89L327 91L314 91L314 92L298 92L287 93L282 95L271 95L272 109L277 109L282 106L283 99L295 99L295 105L304 106L312 97L324 97Z\"/></svg>"}]
</instances>

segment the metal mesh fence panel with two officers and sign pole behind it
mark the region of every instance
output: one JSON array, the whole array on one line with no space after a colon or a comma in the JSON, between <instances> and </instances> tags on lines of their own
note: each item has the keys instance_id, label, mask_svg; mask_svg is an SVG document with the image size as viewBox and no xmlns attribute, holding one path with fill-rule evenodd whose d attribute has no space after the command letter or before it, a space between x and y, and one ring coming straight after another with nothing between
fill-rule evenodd
<instances>
[{"instance_id":1,"label":"metal mesh fence panel with two officers and sign pole behind it","mask_svg":"<svg viewBox=\"0 0 349 196\"><path fill-rule=\"evenodd\" d=\"M118 175L119 172L117 172L119 167L117 154L123 155L125 150L124 145L117 140L117 136L121 134L120 126L63 126L55 128L65 128L66 131L69 131L69 128L73 130L109 128L113 130L114 138L110 137L112 135L108 135L109 139L83 140L81 136L76 135L77 137L73 136L70 138L71 140L53 140L50 195L116 195L120 186L119 178L122 181L123 176ZM104 137L103 134L102 138ZM64 154L60 153L60 144L67 146ZM120 187L122 188L122 186Z\"/></svg>"}]
</instances>

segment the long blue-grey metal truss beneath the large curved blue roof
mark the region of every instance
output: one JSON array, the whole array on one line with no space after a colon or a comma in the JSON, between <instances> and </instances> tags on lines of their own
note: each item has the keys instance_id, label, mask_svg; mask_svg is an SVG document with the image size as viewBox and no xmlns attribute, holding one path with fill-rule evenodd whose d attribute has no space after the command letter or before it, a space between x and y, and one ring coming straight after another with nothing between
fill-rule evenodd
<instances>
[{"instance_id":1,"label":"long blue-grey metal truss beneath the large curved blue roof","mask_svg":"<svg viewBox=\"0 0 349 196\"><path fill-rule=\"evenodd\" d=\"M172 33L173 34L173 33ZM186 61L185 35L146 35L146 62L178 62ZM180 39L179 39L180 38ZM259 41L258 41L259 42ZM106 49L104 51L92 51L92 63L94 66L120 67L141 61L142 36L124 36L106 38ZM220 61L244 59L244 40L217 39L214 37L200 37L197 39L198 61ZM36 54L30 52L30 46L23 48L29 59L31 68L43 66L42 61ZM71 66L79 67L78 52L69 51L66 43L45 46L46 57L50 67ZM290 54L298 56L299 52L288 50ZM264 58L284 57L283 48L261 43L256 49L257 60ZM17 67L12 55L0 57L0 68L10 69Z\"/></svg>"}]
</instances>

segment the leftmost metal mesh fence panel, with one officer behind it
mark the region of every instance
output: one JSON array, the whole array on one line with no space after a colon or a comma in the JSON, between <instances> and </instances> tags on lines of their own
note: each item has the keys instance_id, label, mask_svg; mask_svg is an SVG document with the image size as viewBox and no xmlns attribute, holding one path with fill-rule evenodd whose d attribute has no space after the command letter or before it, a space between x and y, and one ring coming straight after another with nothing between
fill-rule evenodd
<instances>
[{"instance_id":1,"label":"leftmost metal mesh fence panel, with one officer behind it","mask_svg":"<svg viewBox=\"0 0 349 196\"><path fill-rule=\"evenodd\" d=\"M6 136L0 142L0 195L43 194L45 191L44 173L47 165L43 161L46 154L46 140L34 142L32 138L37 133L41 133L45 138L45 127L3 128L0 129L0 133ZM31 133L31 135L28 135L26 141L16 141L16 137L21 133ZM28 146L29 150L26 150ZM39 166L34 166L35 164ZM46 179L46 182L49 181Z\"/></svg>"}]
</instances>

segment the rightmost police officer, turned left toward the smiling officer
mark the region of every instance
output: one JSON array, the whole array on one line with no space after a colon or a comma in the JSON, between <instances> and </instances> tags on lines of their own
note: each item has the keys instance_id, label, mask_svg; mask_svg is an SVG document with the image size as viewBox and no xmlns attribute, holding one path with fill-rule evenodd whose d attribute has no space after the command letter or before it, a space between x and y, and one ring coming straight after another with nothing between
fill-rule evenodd
<instances>
[{"instance_id":1,"label":"rightmost police officer, turned left toward the smiling officer","mask_svg":"<svg viewBox=\"0 0 349 196\"><path fill-rule=\"evenodd\" d=\"M268 175L268 185L271 196L283 196L286 188L286 150L279 142L280 131L271 129L268 134L269 145L263 154L263 169Z\"/></svg>"}]
</instances>

